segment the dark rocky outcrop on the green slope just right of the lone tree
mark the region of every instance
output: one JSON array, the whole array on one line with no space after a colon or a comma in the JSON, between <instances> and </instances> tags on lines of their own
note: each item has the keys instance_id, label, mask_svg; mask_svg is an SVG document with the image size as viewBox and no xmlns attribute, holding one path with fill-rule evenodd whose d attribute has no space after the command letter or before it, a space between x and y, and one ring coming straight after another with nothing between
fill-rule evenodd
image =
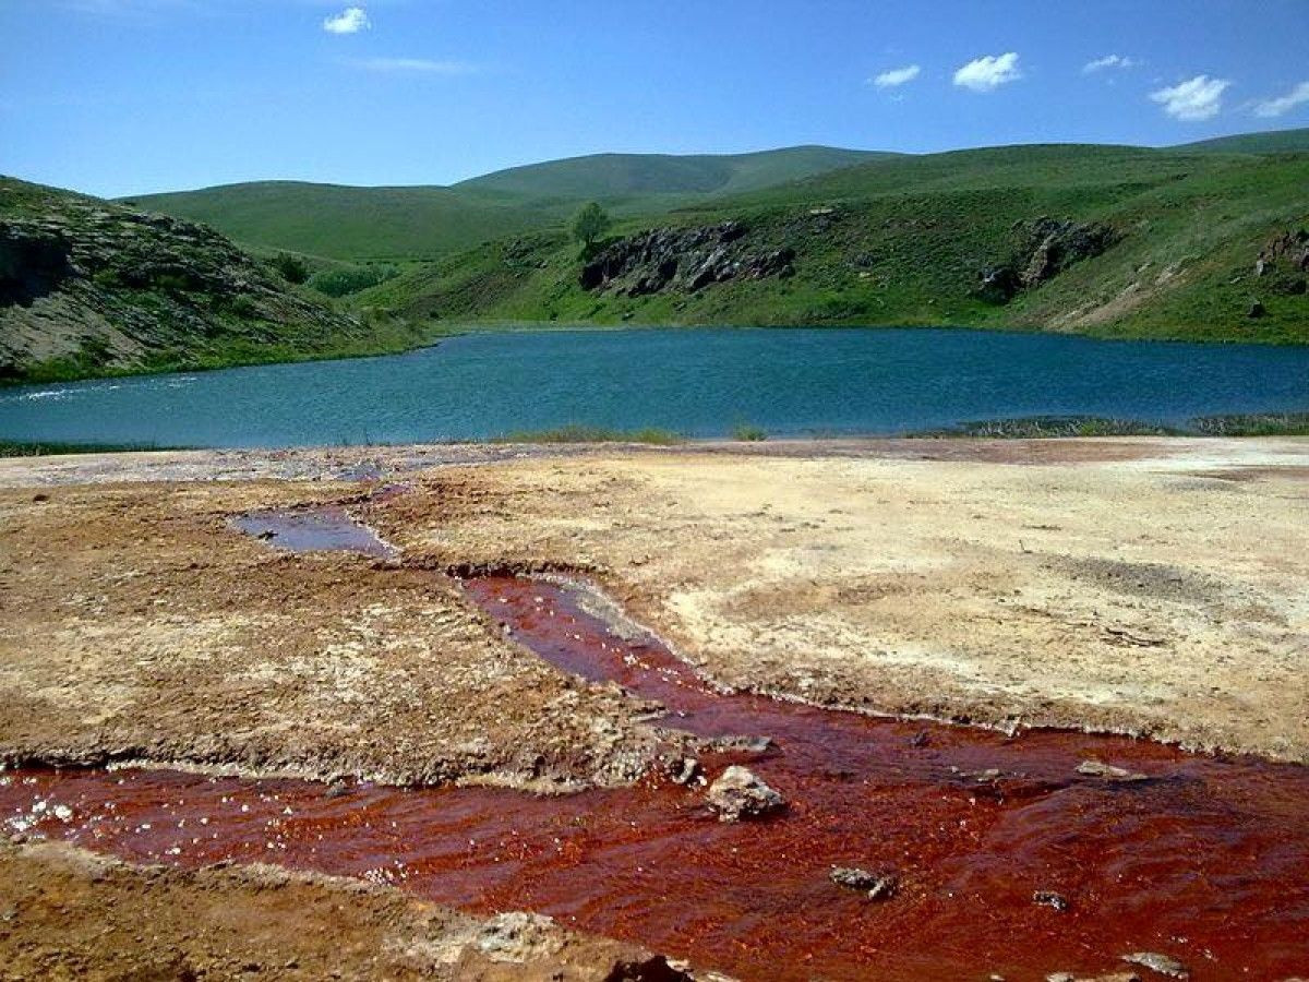
<instances>
[{"instance_id":1,"label":"dark rocky outcrop on the green slope just right of the lone tree","mask_svg":"<svg viewBox=\"0 0 1309 982\"><path fill-rule=\"evenodd\" d=\"M584 289L631 297L679 289L694 293L712 283L789 276L793 249L754 250L738 221L687 229L654 229L603 249L581 271Z\"/></svg>"}]
</instances>

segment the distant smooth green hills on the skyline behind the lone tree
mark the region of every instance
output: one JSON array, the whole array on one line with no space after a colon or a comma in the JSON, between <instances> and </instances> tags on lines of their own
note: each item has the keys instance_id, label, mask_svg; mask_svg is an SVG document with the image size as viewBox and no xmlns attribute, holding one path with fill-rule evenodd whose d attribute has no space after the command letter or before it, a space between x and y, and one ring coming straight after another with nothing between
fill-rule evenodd
<instances>
[{"instance_id":1,"label":"distant smooth green hills on the skyline behind the lone tree","mask_svg":"<svg viewBox=\"0 0 1309 982\"><path fill-rule=\"evenodd\" d=\"M202 221L251 246L342 261L432 259L559 225L590 199L615 213L662 211L847 166L869 155L795 147L737 156L601 155L487 174L453 187L288 181L139 195L127 203Z\"/></svg>"}]
</instances>

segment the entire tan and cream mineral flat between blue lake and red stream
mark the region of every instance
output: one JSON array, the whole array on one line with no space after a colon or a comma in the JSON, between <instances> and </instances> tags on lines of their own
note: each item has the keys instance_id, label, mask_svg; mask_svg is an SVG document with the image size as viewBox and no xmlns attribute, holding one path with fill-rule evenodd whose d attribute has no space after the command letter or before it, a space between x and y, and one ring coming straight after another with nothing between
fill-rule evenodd
<instances>
[{"instance_id":1,"label":"entire tan and cream mineral flat between blue lake and red stream","mask_svg":"<svg viewBox=\"0 0 1309 982\"><path fill-rule=\"evenodd\" d=\"M361 464L369 477L412 487L351 505L404 550L408 568L278 556L223 524L253 504L355 494L357 486L314 482ZM105 483L165 475L178 483ZM310 773L402 774L408 758L410 774L448 776L474 766L521 774L524 746L539 742L550 745L552 779L569 767L586 778L630 774L652 748L636 708L559 681L457 594L414 579L424 566L550 563L590 572L729 685L1306 761L1306 477L1304 439L3 461L3 587L10 610L31 613L0 634L0 690L10 706L0 742L39 750L52 740L51 710L73 755L115 740L130 750L148 733L152 757L212 761L240 753L233 744L249 745L253 733L263 759ZM48 501L31 501L38 487ZM199 577L188 572L198 560ZM295 602L274 584L295 585ZM268 636L278 644L264 644ZM106 639L118 652L113 670L88 666L85 653ZM134 646L149 646L153 657L127 670L122 655ZM149 706L160 686L191 685L192 669L175 672L183 649L203 665L221 649L221 670L202 674L213 686L204 711L161 731ZM331 670L308 657L325 649L336 660ZM478 651L493 670L480 670ZM48 694L41 704L30 698L34 676ZM397 699L389 693L401 683L406 697ZM224 698L233 685L241 698ZM259 707L260 685L278 693L275 712ZM319 732L288 725L338 693L381 702L364 727L353 716L329 719ZM537 695L516 702L522 693ZM131 708L97 715L110 699ZM526 710L478 744L476 707L492 714L497 699ZM452 720L463 706L475 711ZM431 720L432 736L391 746L385 733L395 714ZM196 720L204 733L188 736ZM242 741L223 738L233 729ZM352 742L361 729L385 746L381 757Z\"/></svg>"}]
</instances>

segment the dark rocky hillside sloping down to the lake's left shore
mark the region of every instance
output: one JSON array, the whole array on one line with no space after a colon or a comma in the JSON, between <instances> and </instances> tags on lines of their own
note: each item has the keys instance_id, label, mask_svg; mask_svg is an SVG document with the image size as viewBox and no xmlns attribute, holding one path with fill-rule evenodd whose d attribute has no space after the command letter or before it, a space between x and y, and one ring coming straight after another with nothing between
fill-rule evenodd
<instances>
[{"instance_id":1,"label":"dark rocky hillside sloping down to the lake's left shore","mask_svg":"<svg viewBox=\"0 0 1309 982\"><path fill-rule=\"evenodd\" d=\"M0 178L0 382L411 346L212 229Z\"/></svg>"}]
</instances>

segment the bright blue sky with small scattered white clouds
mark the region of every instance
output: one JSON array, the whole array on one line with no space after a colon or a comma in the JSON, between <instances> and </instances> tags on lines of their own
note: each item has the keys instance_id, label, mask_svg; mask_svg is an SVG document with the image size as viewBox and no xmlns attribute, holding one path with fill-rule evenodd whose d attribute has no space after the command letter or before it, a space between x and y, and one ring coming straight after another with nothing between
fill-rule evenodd
<instances>
[{"instance_id":1,"label":"bright blue sky with small scattered white clouds","mask_svg":"<svg viewBox=\"0 0 1309 982\"><path fill-rule=\"evenodd\" d=\"M1172 144L1309 126L1306 52L1309 0L0 0L0 173L124 195Z\"/></svg>"}]
</instances>

